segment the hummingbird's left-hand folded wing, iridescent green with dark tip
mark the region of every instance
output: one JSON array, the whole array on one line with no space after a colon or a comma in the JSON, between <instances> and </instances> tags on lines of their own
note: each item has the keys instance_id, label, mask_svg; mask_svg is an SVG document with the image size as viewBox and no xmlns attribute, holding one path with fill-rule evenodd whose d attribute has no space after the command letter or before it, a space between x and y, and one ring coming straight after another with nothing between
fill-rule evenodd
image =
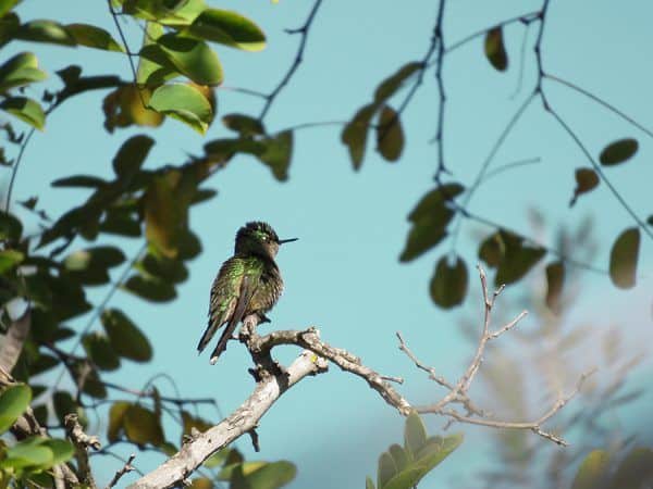
<instances>
[{"instance_id":1,"label":"hummingbird's left-hand folded wing, iridescent green with dark tip","mask_svg":"<svg viewBox=\"0 0 653 489\"><path fill-rule=\"evenodd\" d=\"M245 264L238 258L231 258L222 264L220 273L211 287L209 304L209 325L205 330L197 351L201 352L215 331L229 321L236 309L238 292L245 276Z\"/></svg>"}]
</instances>

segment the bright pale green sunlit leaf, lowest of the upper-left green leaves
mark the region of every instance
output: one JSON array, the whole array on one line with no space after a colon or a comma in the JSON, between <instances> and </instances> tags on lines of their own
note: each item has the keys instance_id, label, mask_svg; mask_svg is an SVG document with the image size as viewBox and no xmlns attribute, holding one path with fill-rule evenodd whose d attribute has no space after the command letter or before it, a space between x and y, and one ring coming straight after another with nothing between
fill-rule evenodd
<instances>
[{"instance_id":1,"label":"bright pale green sunlit leaf, lowest of the upper-left green leaves","mask_svg":"<svg viewBox=\"0 0 653 489\"><path fill-rule=\"evenodd\" d=\"M150 109L169 115L205 134L213 121L213 110L207 98L194 86L163 85L155 90Z\"/></svg>"}]
</instances>

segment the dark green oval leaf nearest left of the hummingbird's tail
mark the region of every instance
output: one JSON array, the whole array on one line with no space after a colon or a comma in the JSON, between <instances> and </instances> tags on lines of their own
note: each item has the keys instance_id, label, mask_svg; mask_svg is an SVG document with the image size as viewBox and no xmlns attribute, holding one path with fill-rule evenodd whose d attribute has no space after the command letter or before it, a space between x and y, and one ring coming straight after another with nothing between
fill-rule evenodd
<instances>
[{"instance_id":1,"label":"dark green oval leaf nearest left of the hummingbird's tail","mask_svg":"<svg viewBox=\"0 0 653 489\"><path fill-rule=\"evenodd\" d=\"M102 313L101 321L115 353L134 362L151 360L152 347L149 340L122 311L108 309Z\"/></svg>"}]
</instances>

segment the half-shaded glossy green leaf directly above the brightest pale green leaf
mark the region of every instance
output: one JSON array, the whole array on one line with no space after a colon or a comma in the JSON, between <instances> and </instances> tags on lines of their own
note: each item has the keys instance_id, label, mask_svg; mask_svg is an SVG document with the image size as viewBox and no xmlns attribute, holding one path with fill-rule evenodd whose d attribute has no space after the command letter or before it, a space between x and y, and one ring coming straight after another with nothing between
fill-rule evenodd
<instances>
[{"instance_id":1,"label":"half-shaded glossy green leaf directly above the brightest pale green leaf","mask_svg":"<svg viewBox=\"0 0 653 489\"><path fill-rule=\"evenodd\" d=\"M206 42L197 39L163 34L155 43L144 46L140 57L163 68L174 70L199 85L222 83L222 66L218 55Z\"/></svg>"}]
</instances>

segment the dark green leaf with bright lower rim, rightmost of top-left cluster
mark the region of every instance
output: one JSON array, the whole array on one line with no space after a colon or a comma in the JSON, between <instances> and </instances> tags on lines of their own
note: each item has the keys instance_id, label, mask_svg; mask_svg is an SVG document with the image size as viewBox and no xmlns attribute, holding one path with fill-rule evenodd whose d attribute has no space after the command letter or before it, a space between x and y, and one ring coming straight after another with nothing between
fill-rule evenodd
<instances>
[{"instance_id":1,"label":"dark green leaf with bright lower rim, rightmost of top-left cluster","mask_svg":"<svg viewBox=\"0 0 653 489\"><path fill-rule=\"evenodd\" d=\"M206 9L185 33L246 51L266 47L266 35L258 25L227 10Z\"/></svg>"}]
</instances>

